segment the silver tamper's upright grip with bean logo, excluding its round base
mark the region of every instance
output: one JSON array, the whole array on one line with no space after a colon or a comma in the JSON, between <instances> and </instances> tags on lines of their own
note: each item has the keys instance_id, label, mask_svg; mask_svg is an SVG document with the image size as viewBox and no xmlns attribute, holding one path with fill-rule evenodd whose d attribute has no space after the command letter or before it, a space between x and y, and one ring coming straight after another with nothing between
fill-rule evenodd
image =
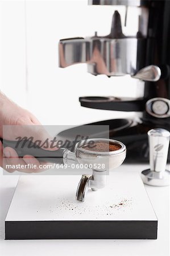
<instances>
[{"instance_id":1,"label":"silver tamper's upright grip with bean logo, excluding its round base","mask_svg":"<svg viewBox=\"0 0 170 256\"><path fill-rule=\"evenodd\" d=\"M160 128L148 131L151 171L165 171L169 148L169 135L169 131Z\"/></svg>"}]
</instances>

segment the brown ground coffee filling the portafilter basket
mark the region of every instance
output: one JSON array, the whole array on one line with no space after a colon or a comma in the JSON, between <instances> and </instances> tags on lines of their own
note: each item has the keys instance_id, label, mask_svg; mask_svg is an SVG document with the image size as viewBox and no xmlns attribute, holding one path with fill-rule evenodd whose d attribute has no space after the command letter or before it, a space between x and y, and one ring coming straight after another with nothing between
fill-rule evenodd
<instances>
[{"instance_id":1,"label":"brown ground coffee filling the portafilter basket","mask_svg":"<svg viewBox=\"0 0 170 256\"><path fill-rule=\"evenodd\" d=\"M85 145L83 148L90 151L107 152L119 150L121 146L118 144L108 144L106 142L96 142L93 145Z\"/></svg>"}]
</instances>

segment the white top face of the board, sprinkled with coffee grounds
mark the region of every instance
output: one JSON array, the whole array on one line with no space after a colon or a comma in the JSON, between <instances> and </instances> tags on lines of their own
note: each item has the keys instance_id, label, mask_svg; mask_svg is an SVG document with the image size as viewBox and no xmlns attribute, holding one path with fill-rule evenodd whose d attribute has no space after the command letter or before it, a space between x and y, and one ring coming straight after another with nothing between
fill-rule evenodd
<instances>
[{"instance_id":1,"label":"white top face of the board, sprinkled with coffee grounds","mask_svg":"<svg viewBox=\"0 0 170 256\"><path fill-rule=\"evenodd\" d=\"M97 192L76 201L79 176L20 178L6 221L157 220L138 174L113 172ZM69 182L68 182L69 181Z\"/></svg>"}]
</instances>

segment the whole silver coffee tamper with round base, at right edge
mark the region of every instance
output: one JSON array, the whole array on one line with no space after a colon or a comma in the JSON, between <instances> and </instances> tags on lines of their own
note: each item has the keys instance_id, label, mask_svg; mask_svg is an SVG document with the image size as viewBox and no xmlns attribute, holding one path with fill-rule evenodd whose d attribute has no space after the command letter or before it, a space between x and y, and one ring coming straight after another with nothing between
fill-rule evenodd
<instances>
[{"instance_id":1,"label":"whole silver coffee tamper with round base, at right edge","mask_svg":"<svg viewBox=\"0 0 170 256\"><path fill-rule=\"evenodd\" d=\"M169 171L165 170L169 148L169 131L156 128L148 131L150 145L150 169L142 172L143 182L148 185L169 185Z\"/></svg>"}]
</instances>

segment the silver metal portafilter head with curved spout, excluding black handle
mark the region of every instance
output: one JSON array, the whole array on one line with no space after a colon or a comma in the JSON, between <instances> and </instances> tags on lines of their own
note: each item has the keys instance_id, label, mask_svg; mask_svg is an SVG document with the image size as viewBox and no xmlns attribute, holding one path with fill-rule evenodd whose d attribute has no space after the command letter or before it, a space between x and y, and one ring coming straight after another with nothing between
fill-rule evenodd
<instances>
[{"instance_id":1,"label":"silver metal portafilter head with curved spout, excluding black handle","mask_svg":"<svg viewBox=\"0 0 170 256\"><path fill-rule=\"evenodd\" d=\"M87 150L84 147L85 142L88 144L90 141L108 143L108 151L98 152ZM109 151L109 143L118 144L121 148L119 150ZM85 192L88 188L97 191L98 189L105 187L108 171L117 168L125 160L126 147L122 142L113 139L88 139L76 144L75 154L78 163L83 164L84 166L86 164L88 168L93 170L92 176L82 175L81 180L78 183L76 200L84 201ZM102 167L102 165L104 165L104 167Z\"/></svg>"}]
</instances>

